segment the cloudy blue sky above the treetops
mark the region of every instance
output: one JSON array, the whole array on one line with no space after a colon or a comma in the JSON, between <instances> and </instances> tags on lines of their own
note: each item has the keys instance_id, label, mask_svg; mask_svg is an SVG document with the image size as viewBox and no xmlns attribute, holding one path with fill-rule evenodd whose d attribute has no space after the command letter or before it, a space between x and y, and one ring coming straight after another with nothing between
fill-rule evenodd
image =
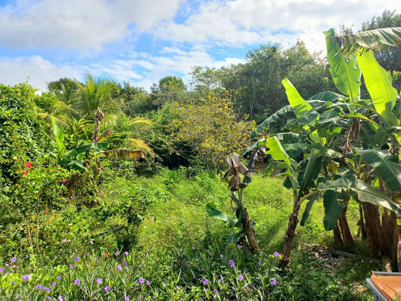
<instances>
[{"instance_id":1,"label":"cloudy blue sky above the treetops","mask_svg":"<svg viewBox=\"0 0 401 301\"><path fill-rule=\"evenodd\" d=\"M245 63L269 42L325 50L323 31L401 13L401 0L0 0L0 83L47 91L85 73L150 86Z\"/></svg>"}]
</instances>

